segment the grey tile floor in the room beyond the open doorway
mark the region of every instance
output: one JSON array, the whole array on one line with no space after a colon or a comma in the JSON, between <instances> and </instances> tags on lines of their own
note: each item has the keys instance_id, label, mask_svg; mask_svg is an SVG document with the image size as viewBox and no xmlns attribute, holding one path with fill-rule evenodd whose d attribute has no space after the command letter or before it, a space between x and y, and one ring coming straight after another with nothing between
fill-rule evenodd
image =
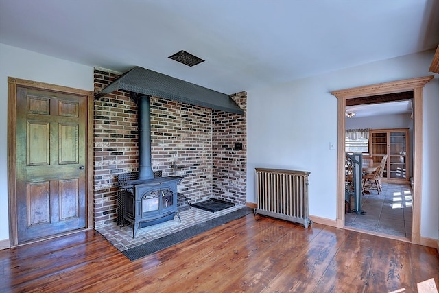
<instances>
[{"instance_id":1,"label":"grey tile floor in the room beyond the open doorway","mask_svg":"<svg viewBox=\"0 0 439 293\"><path fill-rule=\"evenodd\" d=\"M383 183L383 192L372 190L362 197L365 215L346 213L345 226L410 238L412 189L410 185Z\"/></svg>"}]
</instances>

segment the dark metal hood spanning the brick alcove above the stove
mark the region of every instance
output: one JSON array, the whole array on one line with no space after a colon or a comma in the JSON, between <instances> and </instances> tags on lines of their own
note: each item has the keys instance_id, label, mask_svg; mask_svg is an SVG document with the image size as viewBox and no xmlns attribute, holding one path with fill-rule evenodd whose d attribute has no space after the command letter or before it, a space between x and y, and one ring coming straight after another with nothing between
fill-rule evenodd
<instances>
[{"instance_id":1,"label":"dark metal hood spanning the brick alcove above the stove","mask_svg":"<svg viewBox=\"0 0 439 293\"><path fill-rule=\"evenodd\" d=\"M239 108L235 101L225 93L219 93L143 67L134 67L123 73L112 84L96 93L95 99L117 90L163 97L164 99L229 113L244 114L244 110Z\"/></svg>"}]
</instances>

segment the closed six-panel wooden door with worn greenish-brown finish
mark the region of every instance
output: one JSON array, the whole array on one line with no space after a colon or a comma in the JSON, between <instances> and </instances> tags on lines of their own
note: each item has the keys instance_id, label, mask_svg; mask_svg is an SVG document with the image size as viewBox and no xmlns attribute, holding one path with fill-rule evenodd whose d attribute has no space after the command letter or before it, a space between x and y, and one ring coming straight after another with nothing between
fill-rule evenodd
<instances>
[{"instance_id":1,"label":"closed six-panel wooden door with worn greenish-brown finish","mask_svg":"<svg viewBox=\"0 0 439 293\"><path fill-rule=\"evenodd\" d=\"M19 244L86 226L86 97L16 88Z\"/></svg>"}]
</instances>

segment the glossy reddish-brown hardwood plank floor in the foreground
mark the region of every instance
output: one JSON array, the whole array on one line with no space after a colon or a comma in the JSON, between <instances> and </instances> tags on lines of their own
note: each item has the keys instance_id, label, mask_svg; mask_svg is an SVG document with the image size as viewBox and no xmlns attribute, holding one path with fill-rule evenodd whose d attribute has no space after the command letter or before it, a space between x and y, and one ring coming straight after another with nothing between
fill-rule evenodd
<instances>
[{"instance_id":1,"label":"glossy reddish-brown hardwood plank floor in the foreground","mask_svg":"<svg viewBox=\"0 0 439 293\"><path fill-rule=\"evenodd\" d=\"M434 248L247 215L131 262L96 231L0 251L0 292L417 292Z\"/></svg>"}]
</instances>

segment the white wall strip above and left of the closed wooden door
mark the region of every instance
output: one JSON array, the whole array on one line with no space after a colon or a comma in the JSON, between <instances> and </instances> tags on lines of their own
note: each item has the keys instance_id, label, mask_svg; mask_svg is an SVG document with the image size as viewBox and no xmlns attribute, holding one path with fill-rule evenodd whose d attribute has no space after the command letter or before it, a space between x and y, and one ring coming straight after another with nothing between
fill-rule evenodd
<instances>
[{"instance_id":1,"label":"white wall strip above and left of the closed wooden door","mask_svg":"<svg viewBox=\"0 0 439 293\"><path fill-rule=\"evenodd\" d=\"M0 43L0 241L8 223L8 76L93 91L93 67Z\"/></svg>"}]
</instances>

